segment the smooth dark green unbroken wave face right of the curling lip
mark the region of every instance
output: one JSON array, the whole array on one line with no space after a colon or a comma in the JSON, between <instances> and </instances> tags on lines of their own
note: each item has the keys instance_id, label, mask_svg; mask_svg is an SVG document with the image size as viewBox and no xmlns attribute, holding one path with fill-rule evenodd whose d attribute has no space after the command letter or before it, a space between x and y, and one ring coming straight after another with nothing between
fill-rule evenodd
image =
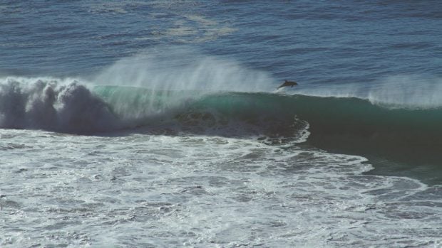
<instances>
[{"instance_id":1,"label":"smooth dark green unbroken wave face right of the curling lip","mask_svg":"<svg viewBox=\"0 0 442 248\"><path fill-rule=\"evenodd\" d=\"M314 146L408 163L441 159L441 108L389 108L358 98L294 98L292 109L309 122Z\"/></svg>"}]
</instances>

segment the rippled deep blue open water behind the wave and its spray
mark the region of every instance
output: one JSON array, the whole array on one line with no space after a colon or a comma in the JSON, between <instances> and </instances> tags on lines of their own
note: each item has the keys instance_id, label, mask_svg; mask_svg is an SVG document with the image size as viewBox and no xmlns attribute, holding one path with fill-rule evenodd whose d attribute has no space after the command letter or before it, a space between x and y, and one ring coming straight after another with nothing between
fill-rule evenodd
<instances>
[{"instance_id":1,"label":"rippled deep blue open water behind the wave and its spray","mask_svg":"<svg viewBox=\"0 0 442 248\"><path fill-rule=\"evenodd\" d=\"M170 45L304 84L442 75L440 1L2 1L0 8L7 76L91 75Z\"/></svg>"}]
</instances>

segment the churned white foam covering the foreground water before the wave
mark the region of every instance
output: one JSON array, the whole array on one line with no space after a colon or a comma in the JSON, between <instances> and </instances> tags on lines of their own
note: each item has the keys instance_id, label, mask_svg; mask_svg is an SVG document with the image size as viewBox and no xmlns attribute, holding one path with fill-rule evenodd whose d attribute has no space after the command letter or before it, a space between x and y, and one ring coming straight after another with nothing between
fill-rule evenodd
<instances>
[{"instance_id":1,"label":"churned white foam covering the foreground water before the wave","mask_svg":"<svg viewBox=\"0 0 442 248\"><path fill-rule=\"evenodd\" d=\"M2 247L441 244L438 188L363 175L359 156L220 136L0 136L24 145L0 161Z\"/></svg>"}]
</instances>

